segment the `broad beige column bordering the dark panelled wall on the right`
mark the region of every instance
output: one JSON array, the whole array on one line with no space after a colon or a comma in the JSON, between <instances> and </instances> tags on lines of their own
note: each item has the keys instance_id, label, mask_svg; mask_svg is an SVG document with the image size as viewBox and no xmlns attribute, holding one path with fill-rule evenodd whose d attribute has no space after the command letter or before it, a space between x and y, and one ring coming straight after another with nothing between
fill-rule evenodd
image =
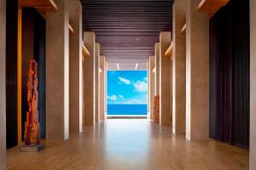
<instances>
[{"instance_id":1,"label":"broad beige column bordering the dark panelled wall on the right","mask_svg":"<svg viewBox=\"0 0 256 170\"><path fill-rule=\"evenodd\" d=\"M201 0L186 1L186 138L209 136L209 15L197 12Z\"/></svg>"}]
</instances>

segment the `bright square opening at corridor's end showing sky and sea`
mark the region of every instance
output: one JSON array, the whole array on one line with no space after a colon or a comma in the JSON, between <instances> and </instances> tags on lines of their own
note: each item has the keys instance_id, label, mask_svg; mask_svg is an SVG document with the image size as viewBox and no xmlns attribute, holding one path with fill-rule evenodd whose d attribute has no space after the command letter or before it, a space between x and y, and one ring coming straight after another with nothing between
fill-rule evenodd
<instances>
[{"instance_id":1,"label":"bright square opening at corridor's end showing sky and sea","mask_svg":"<svg viewBox=\"0 0 256 170\"><path fill-rule=\"evenodd\" d=\"M148 116L148 71L108 71L107 116Z\"/></svg>"}]
</instances>

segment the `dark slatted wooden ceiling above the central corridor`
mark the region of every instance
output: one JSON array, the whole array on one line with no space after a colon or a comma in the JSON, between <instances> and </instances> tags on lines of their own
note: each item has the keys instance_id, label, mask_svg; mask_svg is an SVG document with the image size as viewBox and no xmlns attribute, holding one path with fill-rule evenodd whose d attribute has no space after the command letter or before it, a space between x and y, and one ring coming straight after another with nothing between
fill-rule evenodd
<instances>
[{"instance_id":1,"label":"dark slatted wooden ceiling above the central corridor","mask_svg":"<svg viewBox=\"0 0 256 170\"><path fill-rule=\"evenodd\" d=\"M83 30L95 31L101 54L111 59L148 59L160 31L172 30L174 0L81 0Z\"/></svg>"}]
</instances>

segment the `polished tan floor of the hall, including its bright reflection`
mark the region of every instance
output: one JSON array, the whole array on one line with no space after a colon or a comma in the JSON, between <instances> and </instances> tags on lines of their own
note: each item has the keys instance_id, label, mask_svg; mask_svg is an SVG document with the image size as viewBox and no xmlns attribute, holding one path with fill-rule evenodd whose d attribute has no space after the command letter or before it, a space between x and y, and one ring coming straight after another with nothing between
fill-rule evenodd
<instances>
[{"instance_id":1,"label":"polished tan floor of the hall, including its bright reflection","mask_svg":"<svg viewBox=\"0 0 256 170\"><path fill-rule=\"evenodd\" d=\"M214 140L189 142L148 120L113 119L39 153L10 149L8 169L241 170L248 169L248 151Z\"/></svg>"}]
</instances>

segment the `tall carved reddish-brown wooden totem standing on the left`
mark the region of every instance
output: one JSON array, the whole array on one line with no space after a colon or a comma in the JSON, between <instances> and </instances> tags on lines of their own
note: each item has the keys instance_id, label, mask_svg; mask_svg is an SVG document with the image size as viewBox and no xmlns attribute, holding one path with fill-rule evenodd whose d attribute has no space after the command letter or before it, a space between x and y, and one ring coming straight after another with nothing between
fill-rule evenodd
<instances>
[{"instance_id":1,"label":"tall carved reddish-brown wooden totem standing on the left","mask_svg":"<svg viewBox=\"0 0 256 170\"><path fill-rule=\"evenodd\" d=\"M31 59L27 73L27 102L25 122L25 144L40 144L40 123L38 122L38 63Z\"/></svg>"}]
</instances>

